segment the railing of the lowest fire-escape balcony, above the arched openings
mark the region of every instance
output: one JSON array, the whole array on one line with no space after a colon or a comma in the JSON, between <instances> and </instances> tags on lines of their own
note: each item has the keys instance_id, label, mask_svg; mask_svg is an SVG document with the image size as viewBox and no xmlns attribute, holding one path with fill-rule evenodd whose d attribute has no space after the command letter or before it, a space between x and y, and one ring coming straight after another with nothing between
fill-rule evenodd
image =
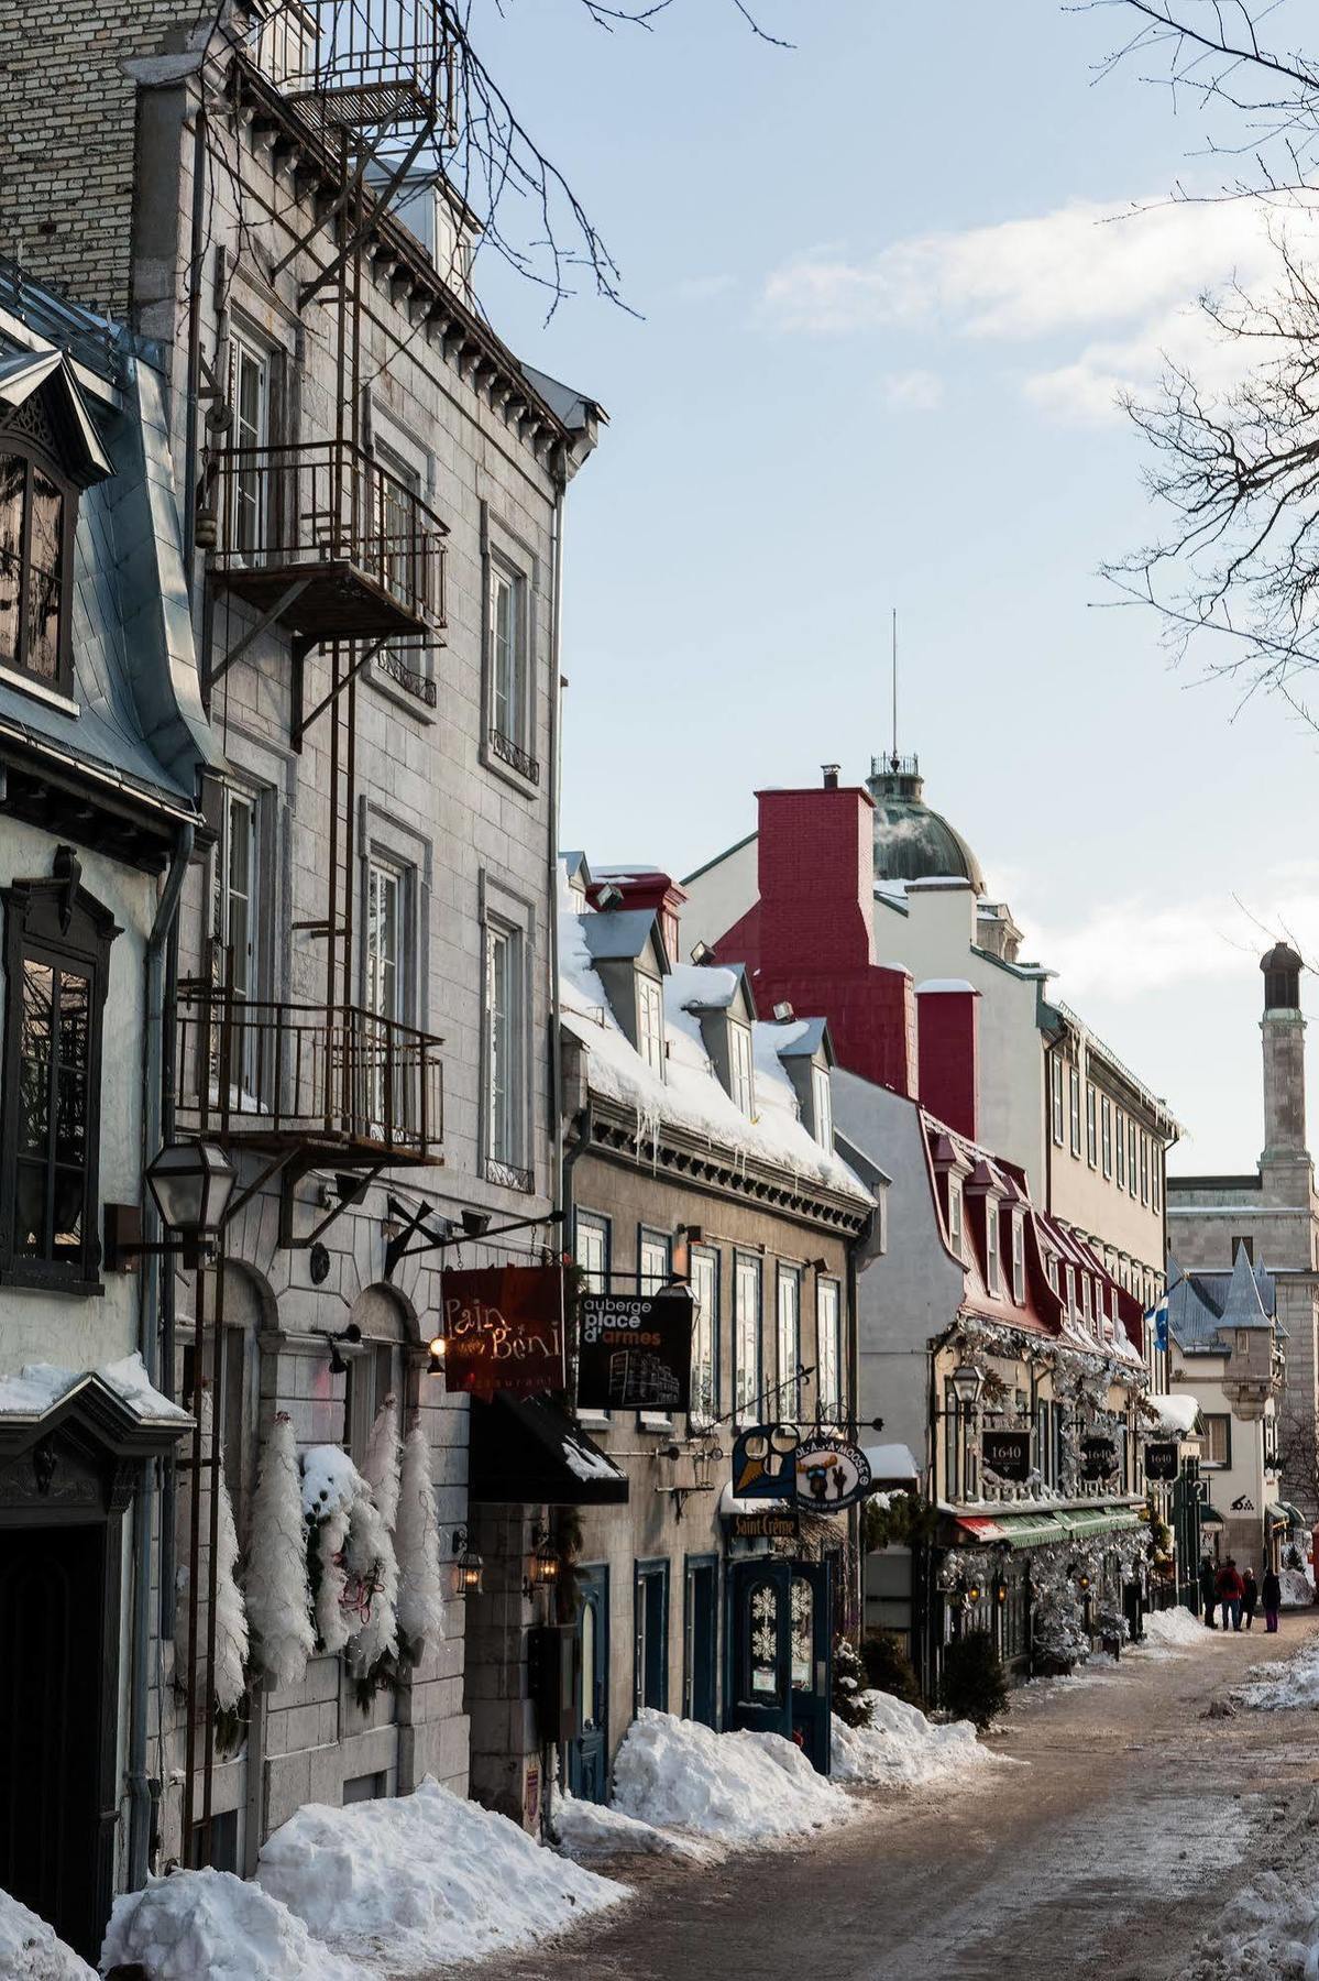
<instances>
[{"instance_id":1,"label":"railing of the lowest fire-escape balcony, above the arched openings","mask_svg":"<svg viewBox=\"0 0 1319 1981\"><path fill-rule=\"evenodd\" d=\"M265 1004L192 981L178 994L178 1123L275 1151L434 1163L440 1046L356 1004Z\"/></svg>"}]
</instances>

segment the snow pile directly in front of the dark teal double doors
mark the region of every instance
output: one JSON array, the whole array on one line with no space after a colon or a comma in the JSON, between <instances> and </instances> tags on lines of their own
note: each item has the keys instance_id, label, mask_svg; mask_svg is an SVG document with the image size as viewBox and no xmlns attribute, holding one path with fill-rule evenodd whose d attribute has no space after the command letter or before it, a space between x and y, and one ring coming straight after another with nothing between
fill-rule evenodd
<instances>
[{"instance_id":1,"label":"snow pile directly in front of the dark teal double doors","mask_svg":"<svg viewBox=\"0 0 1319 1981\"><path fill-rule=\"evenodd\" d=\"M618 1749L614 1803L640 1823L735 1844L800 1836L858 1813L778 1733L715 1733L650 1708Z\"/></svg>"}]
</instances>

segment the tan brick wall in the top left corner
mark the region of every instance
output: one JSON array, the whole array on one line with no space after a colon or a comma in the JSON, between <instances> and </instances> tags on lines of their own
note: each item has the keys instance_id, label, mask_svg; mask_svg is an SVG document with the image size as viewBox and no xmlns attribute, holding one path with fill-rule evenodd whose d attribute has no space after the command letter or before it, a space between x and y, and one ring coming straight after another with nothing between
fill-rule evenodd
<instances>
[{"instance_id":1,"label":"tan brick wall in the top left corner","mask_svg":"<svg viewBox=\"0 0 1319 1981\"><path fill-rule=\"evenodd\" d=\"M137 83L123 61L182 46L198 0L8 0L0 8L0 254L125 315Z\"/></svg>"}]
</instances>

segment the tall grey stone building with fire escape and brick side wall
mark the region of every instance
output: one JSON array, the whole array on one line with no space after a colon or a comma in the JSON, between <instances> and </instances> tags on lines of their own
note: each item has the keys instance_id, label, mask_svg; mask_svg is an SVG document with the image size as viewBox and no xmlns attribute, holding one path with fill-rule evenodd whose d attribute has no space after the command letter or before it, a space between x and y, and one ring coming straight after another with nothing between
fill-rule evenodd
<instances>
[{"instance_id":1,"label":"tall grey stone building with fire escape and brick side wall","mask_svg":"<svg viewBox=\"0 0 1319 1981\"><path fill-rule=\"evenodd\" d=\"M301 44L273 40L275 14ZM560 547L600 414L477 315L469 240L422 238L428 200L454 218L444 190L414 190L414 232L368 174L343 220L335 77L303 14L12 8L0 149L24 170L4 172L0 228L151 353L152 485L182 539L162 616L194 644L216 739L168 959L162 1133L224 1143L240 1208L214 1270L164 1274L160 1381L186 1405L214 1385L240 1545L279 1412L303 1450L360 1458L386 1405L428 1432L448 1541L467 1405L426 1351L442 1246L463 1212L549 1236L558 1200ZM501 1256L477 1238L463 1264ZM362 1706L317 1658L255 1692L204 1795L180 1783L188 1492L166 1474L152 1862L250 1872L309 1797L424 1773L465 1789L457 1581L396 1692Z\"/></svg>"}]
</instances>

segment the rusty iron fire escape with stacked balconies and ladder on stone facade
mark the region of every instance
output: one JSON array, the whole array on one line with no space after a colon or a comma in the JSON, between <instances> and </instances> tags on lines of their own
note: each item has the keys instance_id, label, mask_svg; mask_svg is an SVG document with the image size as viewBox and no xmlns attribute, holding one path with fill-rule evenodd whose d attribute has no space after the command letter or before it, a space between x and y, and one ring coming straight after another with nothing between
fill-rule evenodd
<instances>
[{"instance_id":1,"label":"rusty iron fire escape with stacked balconies and ladder on stone facade","mask_svg":"<svg viewBox=\"0 0 1319 1981\"><path fill-rule=\"evenodd\" d=\"M364 444L360 331L368 224L444 139L450 61L438 0L283 0L259 57L337 178L329 212L321 188L317 218L275 269L299 265L299 309L315 307L335 345L335 432L242 444L226 408L228 436L206 469L208 584L250 620L212 658L208 689L271 630L287 636L291 743L301 753L315 731L329 798L325 909L291 933L303 955L323 945L325 990L317 1002L263 1000L236 983L218 939L210 973L180 985L178 1119L263 1155L259 1181L283 1177L281 1242L305 1246L325 1228L293 1234L293 1185L307 1171L362 1173L364 1187L384 1169L442 1161L442 1040L355 1000L353 820L358 679L376 658L398 664L400 650L438 644L446 626L448 529ZM321 267L307 275L313 260Z\"/></svg>"}]
</instances>

